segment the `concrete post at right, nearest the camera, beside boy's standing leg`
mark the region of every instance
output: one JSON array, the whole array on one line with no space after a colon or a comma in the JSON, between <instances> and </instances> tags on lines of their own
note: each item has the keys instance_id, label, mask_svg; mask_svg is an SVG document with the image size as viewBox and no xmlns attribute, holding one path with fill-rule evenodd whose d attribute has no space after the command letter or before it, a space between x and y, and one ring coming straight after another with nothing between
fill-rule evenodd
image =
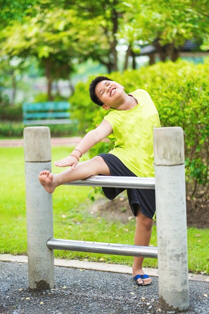
<instances>
[{"instance_id":1,"label":"concrete post at right, nearest the camera, beside boy's standing leg","mask_svg":"<svg viewBox=\"0 0 209 314\"><path fill-rule=\"evenodd\" d=\"M159 303L188 308L188 266L183 130L154 129Z\"/></svg>"}]
</instances>

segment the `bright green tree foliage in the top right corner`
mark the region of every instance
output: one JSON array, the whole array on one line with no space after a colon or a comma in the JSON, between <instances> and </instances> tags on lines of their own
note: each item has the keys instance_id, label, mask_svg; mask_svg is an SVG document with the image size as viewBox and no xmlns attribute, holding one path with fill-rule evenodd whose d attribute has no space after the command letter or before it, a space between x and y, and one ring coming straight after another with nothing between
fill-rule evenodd
<instances>
[{"instance_id":1,"label":"bright green tree foliage in the top right corner","mask_svg":"<svg viewBox=\"0 0 209 314\"><path fill-rule=\"evenodd\" d=\"M139 41L152 43L161 61L175 61L186 40L201 44L208 38L207 0L130 0L126 6L120 36L126 38L133 52Z\"/></svg>"}]
</instances>

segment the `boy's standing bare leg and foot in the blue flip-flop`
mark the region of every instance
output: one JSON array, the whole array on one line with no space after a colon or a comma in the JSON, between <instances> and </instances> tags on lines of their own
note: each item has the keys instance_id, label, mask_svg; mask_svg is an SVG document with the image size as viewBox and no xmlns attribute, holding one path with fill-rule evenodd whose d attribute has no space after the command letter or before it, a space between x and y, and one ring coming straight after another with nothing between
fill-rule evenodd
<instances>
[{"instance_id":1,"label":"boy's standing bare leg and foot in the blue flip-flop","mask_svg":"<svg viewBox=\"0 0 209 314\"><path fill-rule=\"evenodd\" d=\"M140 210L138 210L138 214L136 216L136 230L135 230L135 237L134 243L135 245L149 245L149 241L151 238L152 233L152 224L153 220L144 216ZM134 257L133 258L133 267L132 267L132 274L133 276L136 275L143 275L144 272L142 270L142 263L144 257ZM139 278L137 279L138 283L142 283L142 280ZM151 278L145 278L144 283L151 282Z\"/></svg>"}]
</instances>

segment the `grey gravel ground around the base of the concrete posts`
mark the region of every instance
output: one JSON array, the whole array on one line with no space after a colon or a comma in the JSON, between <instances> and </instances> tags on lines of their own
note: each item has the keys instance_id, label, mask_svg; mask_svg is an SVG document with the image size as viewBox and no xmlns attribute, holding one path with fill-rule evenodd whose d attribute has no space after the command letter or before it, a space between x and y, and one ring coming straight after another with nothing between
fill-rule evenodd
<instances>
[{"instance_id":1,"label":"grey gravel ground around the base of the concrete posts","mask_svg":"<svg viewBox=\"0 0 209 314\"><path fill-rule=\"evenodd\" d=\"M28 264L0 262L1 314L179 313L158 304L158 280L138 287L130 275L55 267L56 288L28 289ZM186 314L209 313L208 282L189 281ZM206 296L207 295L207 296Z\"/></svg>"}]
</instances>

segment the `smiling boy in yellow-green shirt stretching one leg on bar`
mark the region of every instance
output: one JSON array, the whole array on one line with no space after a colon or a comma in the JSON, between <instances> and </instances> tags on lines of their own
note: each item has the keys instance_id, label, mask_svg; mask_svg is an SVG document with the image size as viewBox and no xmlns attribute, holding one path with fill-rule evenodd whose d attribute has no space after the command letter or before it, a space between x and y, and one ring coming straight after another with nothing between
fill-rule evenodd
<instances>
[{"instance_id":1,"label":"smiling boy in yellow-green shirt stretching one leg on bar","mask_svg":"<svg viewBox=\"0 0 209 314\"><path fill-rule=\"evenodd\" d=\"M48 193L71 181L92 175L154 177L153 127L159 127L158 112L149 94L138 89L126 94L124 87L105 76L96 77L90 84L93 102L111 110L94 130L89 131L72 153L55 162L57 167L69 167L59 175L42 171L39 180ZM89 161L78 164L79 158L96 143L111 135L114 148ZM77 165L78 164L78 165ZM124 189L103 188L109 199ZM127 189L131 210L136 217L135 245L147 246L155 215L154 190ZM133 277L137 285L149 285L152 280L142 270L143 257L133 259Z\"/></svg>"}]
</instances>

